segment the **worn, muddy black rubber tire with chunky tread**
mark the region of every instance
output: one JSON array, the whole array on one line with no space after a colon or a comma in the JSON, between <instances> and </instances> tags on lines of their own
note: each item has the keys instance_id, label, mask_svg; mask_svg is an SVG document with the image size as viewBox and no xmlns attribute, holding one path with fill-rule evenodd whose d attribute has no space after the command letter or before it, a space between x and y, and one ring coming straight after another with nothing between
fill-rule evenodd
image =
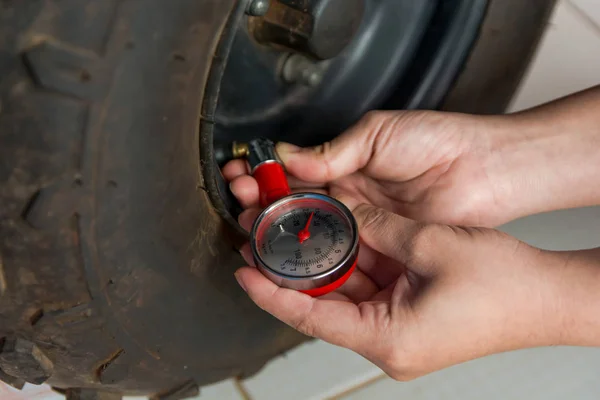
<instances>
[{"instance_id":1,"label":"worn, muddy black rubber tire with chunky tread","mask_svg":"<svg viewBox=\"0 0 600 400\"><path fill-rule=\"evenodd\" d=\"M523 15L519 35L484 25L450 109L506 104L552 1L535 3L492 1ZM236 236L199 163L207 77L242 8L0 1L0 379L176 399L305 340L235 283Z\"/></svg>"}]
</instances>

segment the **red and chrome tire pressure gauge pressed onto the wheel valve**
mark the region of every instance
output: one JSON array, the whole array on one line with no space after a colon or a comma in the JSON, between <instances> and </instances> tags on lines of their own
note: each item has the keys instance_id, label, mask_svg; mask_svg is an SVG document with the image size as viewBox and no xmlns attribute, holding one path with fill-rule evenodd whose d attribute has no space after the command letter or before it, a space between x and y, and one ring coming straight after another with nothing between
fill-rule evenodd
<instances>
[{"instance_id":1,"label":"red and chrome tire pressure gauge pressed onto the wheel valve","mask_svg":"<svg viewBox=\"0 0 600 400\"><path fill-rule=\"evenodd\" d=\"M317 193L290 194L273 143L249 143L248 161L266 207L250 232L257 268L278 286L321 296L356 268L358 228L350 210Z\"/></svg>"}]
</instances>

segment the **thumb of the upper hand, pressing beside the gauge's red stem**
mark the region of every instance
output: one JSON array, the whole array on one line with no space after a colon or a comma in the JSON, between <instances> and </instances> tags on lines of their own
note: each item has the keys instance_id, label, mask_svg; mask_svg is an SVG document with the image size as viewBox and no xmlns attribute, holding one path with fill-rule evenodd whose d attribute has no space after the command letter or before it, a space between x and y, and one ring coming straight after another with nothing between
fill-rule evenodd
<instances>
[{"instance_id":1,"label":"thumb of the upper hand, pressing beside the gauge's red stem","mask_svg":"<svg viewBox=\"0 0 600 400\"><path fill-rule=\"evenodd\" d=\"M314 183L326 183L364 168L374 153L378 136L389 126L385 122L393 112L370 112L331 142L301 148L278 143L277 154L295 177Z\"/></svg>"}]
</instances>

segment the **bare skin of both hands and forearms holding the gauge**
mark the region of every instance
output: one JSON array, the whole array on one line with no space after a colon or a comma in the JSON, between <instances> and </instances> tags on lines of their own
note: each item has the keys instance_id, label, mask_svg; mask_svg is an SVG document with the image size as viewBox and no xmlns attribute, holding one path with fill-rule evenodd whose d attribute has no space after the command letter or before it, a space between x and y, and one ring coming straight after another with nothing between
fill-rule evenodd
<instances>
[{"instance_id":1,"label":"bare skin of both hands and forearms holding the gauge","mask_svg":"<svg viewBox=\"0 0 600 400\"><path fill-rule=\"evenodd\" d=\"M370 113L317 148L279 144L293 187L353 211L359 268L318 299L252 267L236 278L262 309L399 380L508 350L599 346L600 249L543 251L491 228L600 204L599 148L598 88L509 116ZM240 160L223 174L249 229L257 184Z\"/></svg>"}]
</instances>

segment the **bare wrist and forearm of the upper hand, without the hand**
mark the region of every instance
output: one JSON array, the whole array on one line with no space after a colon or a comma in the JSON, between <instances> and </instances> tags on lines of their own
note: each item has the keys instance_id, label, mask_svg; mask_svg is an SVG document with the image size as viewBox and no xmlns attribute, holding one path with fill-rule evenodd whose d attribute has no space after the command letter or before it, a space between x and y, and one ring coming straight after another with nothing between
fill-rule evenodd
<instances>
[{"instance_id":1,"label":"bare wrist and forearm of the upper hand, without the hand","mask_svg":"<svg viewBox=\"0 0 600 400\"><path fill-rule=\"evenodd\" d=\"M495 117L485 171L507 222L600 201L600 131L539 111Z\"/></svg>"}]
</instances>

